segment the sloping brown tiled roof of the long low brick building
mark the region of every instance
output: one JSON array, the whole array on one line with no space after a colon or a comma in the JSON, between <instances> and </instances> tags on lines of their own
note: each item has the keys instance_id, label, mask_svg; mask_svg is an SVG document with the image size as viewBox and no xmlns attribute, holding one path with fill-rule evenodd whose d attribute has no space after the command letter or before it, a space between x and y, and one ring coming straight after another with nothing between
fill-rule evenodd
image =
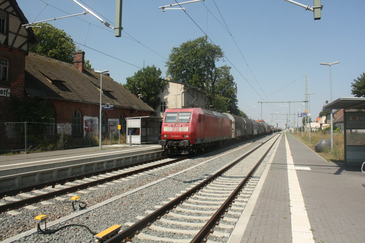
<instances>
[{"instance_id":1,"label":"sloping brown tiled roof of the long low brick building","mask_svg":"<svg viewBox=\"0 0 365 243\"><path fill-rule=\"evenodd\" d=\"M100 73L80 72L70 63L29 52L26 56L25 86L28 95L100 103ZM149 105L103 74L102 102L116 107L154 111Z\"/></svg>"}]
</instances>

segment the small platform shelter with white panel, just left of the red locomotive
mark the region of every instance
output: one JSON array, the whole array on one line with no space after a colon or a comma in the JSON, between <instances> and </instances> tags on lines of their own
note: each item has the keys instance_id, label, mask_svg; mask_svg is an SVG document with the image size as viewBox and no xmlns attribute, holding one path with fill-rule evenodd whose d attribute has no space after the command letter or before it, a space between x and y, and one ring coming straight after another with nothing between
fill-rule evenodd
<instances>
[{"instance_id":1,"label":"small platform shelter with white panel, just left of the red locomotive","mask_svg":"<svg viewBox=\"0 0 365 243\"><path fill-rule=\"evenodd\" d=\"M162 117L128 117L127 120L127 144L139 144L142 142L158 143L161 140ZM131 135L130 135L131 134Z\"/></svg>"}]
</instances>

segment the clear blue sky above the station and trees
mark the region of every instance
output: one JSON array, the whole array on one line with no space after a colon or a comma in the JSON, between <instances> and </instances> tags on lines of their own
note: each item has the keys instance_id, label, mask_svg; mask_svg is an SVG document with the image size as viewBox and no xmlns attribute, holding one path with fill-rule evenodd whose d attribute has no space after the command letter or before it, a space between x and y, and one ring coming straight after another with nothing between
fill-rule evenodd
<instances>
[{"instance_id":1,"label":"clear blue sky above the station and trees","mask_svg":"<svg viewBox=\"0 0 365 243\"><path fill-rule=\"evenodd\" d=\"M114 26L115 0L78 1ZM289 113L288 103L262 103L261 116L258 102L291 101L291 113L303 112L304 105L298 105L303 102L295 101L305 100L307 75L308 92L315 93L310 97L314 119L324 101L330 99L329 68L319 63L340 62L331 66L333 100L353 97L351 82L365 72L364 0L346 4L322 0L320 20L313 20L313 12L284 0L205 0L183 5L186 13L158 9L171 1L175 3L124 0L120 38L90 14L49 23L79 43L77 46L85 51L85 58L95 70L109 70L119 83L125 83L126 77L134 75L143 64L154 64L165 76L171 49L206 32L226 56L217 66L232 67L238 107L251 118L263 118L268 123L273 118L273 123L279 125L285 124L286 115L271 114ZM72 0L17 2L29 22L84 11ZM298 2L313 5L312 0Z\"/></svg>"}]
</instances>

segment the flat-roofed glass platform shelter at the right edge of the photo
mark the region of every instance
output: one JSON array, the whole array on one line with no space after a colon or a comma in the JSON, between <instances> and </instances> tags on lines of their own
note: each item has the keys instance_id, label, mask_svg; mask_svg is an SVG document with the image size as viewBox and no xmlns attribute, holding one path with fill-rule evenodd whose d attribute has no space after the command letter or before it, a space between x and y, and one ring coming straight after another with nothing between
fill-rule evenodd
<instances>
[{"instance_id":1,"label":"flat-roofed glass platform shelter at the right edge of the photo","mask_svg":"<svg viewBox=\"0 0 365 243\"><path fill-rule=\"evenodd\" d=\"M343 112L343 145L345 163L365 162L365 98L338 98L323 109ZM347 111L356 109L357 111Z\"/></svg>"}]
</instances>

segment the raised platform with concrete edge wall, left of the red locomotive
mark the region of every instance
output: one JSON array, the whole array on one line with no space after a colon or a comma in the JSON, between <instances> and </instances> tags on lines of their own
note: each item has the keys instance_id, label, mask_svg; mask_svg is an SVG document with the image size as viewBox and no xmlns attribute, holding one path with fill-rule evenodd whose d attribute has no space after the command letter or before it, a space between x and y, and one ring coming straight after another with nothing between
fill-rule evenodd
<instances>
[{"instance_id":1,"label":"raised platform with concrete edge wall, left of the red locomotive","mask_svg":"<svg viewBox=\"0 0 365 243\"><path fill-rule=\"evenodd\" d=\"M161 145L104 145L0 156L0 192L164 156Z\"/></svg>"}]
</instances>

